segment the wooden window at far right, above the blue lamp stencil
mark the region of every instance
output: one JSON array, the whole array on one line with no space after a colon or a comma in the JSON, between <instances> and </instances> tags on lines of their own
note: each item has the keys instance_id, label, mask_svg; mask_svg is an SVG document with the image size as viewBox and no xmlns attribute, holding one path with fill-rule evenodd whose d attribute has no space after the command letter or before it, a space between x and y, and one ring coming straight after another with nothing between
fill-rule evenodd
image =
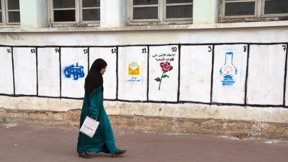
<instances>
[{"instance_id":1,"label":"wooden window at far right, above the blue lamp stencil","mask_svg":"<svg viewBox=\"0 0 288 162\"><path fill-rule=\"evenodd\" d=\"M287 20L288 0L222 0L221 22Z\"/></svg>"}]
</instances>

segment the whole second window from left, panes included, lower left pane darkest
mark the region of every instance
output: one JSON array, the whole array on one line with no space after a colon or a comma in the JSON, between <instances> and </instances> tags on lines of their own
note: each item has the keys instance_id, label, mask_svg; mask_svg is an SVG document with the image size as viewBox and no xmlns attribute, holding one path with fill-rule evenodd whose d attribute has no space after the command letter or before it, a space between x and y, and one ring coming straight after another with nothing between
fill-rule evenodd
<instances>
[{"instance_id":1,"label":"whole second window from left, panes included, lower left pane darkest","mask_svg":"<svg viewBox=\"0 0 288 162\"><path fill-rule=\"evenodd\" d=\"M100 25L100 0L50 0L49 6L53 26Z\"/></svg>"}]
</instances>

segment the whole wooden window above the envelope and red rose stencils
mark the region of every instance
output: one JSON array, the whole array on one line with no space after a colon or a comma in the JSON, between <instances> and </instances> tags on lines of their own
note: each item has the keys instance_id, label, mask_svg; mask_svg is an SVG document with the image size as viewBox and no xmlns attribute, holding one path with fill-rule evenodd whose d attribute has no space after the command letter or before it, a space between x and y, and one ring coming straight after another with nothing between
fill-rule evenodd
<instances>
[{"instance_id":1,"label":"whole wooden window above the envelope and red rose stencils","mask_svg":"<svg viewBox=\"0 0 288 162\"><path fill-rule=\"evenodd\" d=\"M129 25L192 24L193 0L130 0Z\"/></svg>"}]
</instances>

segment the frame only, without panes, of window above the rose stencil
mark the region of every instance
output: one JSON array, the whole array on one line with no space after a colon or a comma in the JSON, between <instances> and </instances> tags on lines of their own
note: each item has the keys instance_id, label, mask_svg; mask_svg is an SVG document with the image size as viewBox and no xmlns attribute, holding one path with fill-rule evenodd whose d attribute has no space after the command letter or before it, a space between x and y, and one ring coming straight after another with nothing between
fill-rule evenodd
<instances>
[{"instance_id":1,"label":"frame only, without panes, of window above the rose stencil","mask_svg":"<svg viewBox=\"0 0 288 162\"><path fill-rule=\"evenodd\" d=\"M158 4L133 5L133 0L129 0L129 3L127 4L128 25L192 24L193 14L191 18L166 18L166 6L179 5L192 5L193 12L193 2L167 4L166 0L158 0ZM135 7L158 7L158 19L133 19L133 8Z\"/></svg>"}]
</instances>

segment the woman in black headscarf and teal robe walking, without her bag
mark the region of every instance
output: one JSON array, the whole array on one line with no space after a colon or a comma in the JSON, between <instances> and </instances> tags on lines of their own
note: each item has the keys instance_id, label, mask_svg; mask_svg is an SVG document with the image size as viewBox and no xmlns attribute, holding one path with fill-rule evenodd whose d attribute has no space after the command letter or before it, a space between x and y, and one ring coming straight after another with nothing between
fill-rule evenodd
<instances>
[{"instance_id":1,"label":"woman in black headscarf and teal robe walking, without her bag","mask_svg":"<svg viewBox=\"0 0 288 162\"><path fill-rule=\"evenodd\" d=\"M111 153L112 157L120 156L126 150L119 150L115 146L115 140L109 118L103 106L103 77L107 63L98 58L92 64L88 75L85 78L85 95L80 116L80 128L86 118L93 117L100 122L94 136L89 136L79 132L77 152L82 158L91 158L88 152Z\"/></svg>"}]
</instances>

